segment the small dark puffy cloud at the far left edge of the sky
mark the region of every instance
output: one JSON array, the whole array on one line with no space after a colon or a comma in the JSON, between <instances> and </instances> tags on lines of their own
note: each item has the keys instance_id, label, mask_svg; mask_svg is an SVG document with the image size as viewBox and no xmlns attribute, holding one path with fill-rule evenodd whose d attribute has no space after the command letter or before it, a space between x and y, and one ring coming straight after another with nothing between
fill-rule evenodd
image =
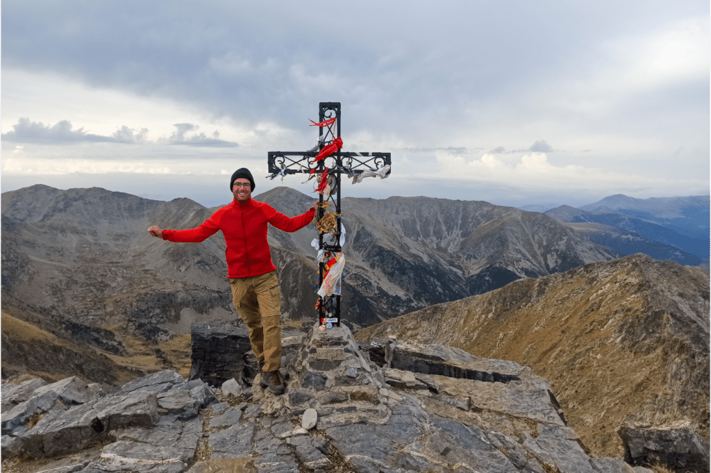
<instances>
[{"instance_id":1,"label":"small dark puffy cloud at the far left edge of the sky","mask_svg":"<svg viewBox=\"0 0 711 473\"><path fill-rule=\"evenodd\" d=\"M76 142L109 142L109 143L143 143L146 141L148 129L139 132L127 126L121 127L110 137L84 131L84 127L73 129L69 120L61 120L53 125L42 122L32 122L23 117L12 126L13 131L5 134L5 139L11 142L24 143L76 143Z\"/></svg>"}]
</instances>

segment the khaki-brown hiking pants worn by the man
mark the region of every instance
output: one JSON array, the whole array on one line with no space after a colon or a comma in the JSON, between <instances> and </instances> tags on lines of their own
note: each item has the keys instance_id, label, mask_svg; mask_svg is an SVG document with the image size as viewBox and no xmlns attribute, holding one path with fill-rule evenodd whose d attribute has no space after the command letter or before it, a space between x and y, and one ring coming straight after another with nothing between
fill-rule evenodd
<instances>
[{"instance_id":1,"label":"khaki-brown hiking pants worn by the man","mask_svg":"<svg viewBox=\"0 0 711 473\"><path fill-rule=\"evenodd\" d=\"M277 272L253 277L230 278L232 302L250 329L250 344L264 371L282 367L282 290Z\"/></svg>"}]
</instances>

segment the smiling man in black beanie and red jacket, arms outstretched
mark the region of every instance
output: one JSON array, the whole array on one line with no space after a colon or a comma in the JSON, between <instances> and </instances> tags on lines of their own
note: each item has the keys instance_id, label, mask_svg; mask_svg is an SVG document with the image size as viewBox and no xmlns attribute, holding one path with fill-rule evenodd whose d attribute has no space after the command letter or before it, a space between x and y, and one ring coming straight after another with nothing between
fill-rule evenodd
<instances>
[{"instance_id":1,"label":"smiling man in black beanie and red jacket, arms outstretched","mask_svg":"<svg viewBox=\"0 0 711 473\"><path fill-rule=\"evenodd\" d=\"M227 243L225 257L232 286L232 302L250 331L252 351L260 363L260 386L274 394L284 393L282 366L282 292L277 268L267 244L267 223L295 232L311 223L315 207L289 218L263 202L252 200L255 180L249 169L237 169L230 179L234 199L213 213L198 228L189 230L148 229L154 237L175 242L201 242L222 230Z\"/></svg>"}]
</instances>

